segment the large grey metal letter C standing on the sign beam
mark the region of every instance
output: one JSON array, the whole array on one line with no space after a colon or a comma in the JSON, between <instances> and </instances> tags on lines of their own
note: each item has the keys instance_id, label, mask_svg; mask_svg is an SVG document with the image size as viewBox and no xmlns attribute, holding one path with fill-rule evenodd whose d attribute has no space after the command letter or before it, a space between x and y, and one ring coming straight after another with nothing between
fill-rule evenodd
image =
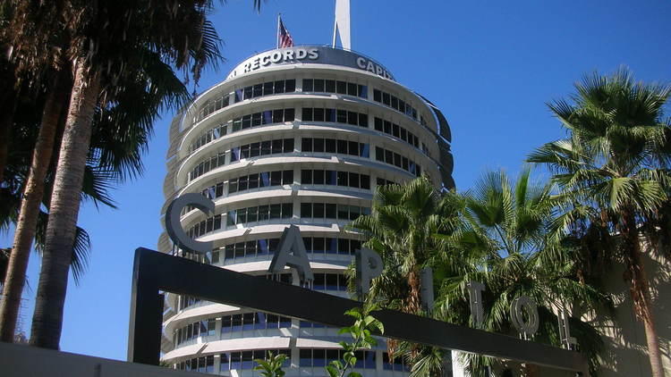
<instances>
[{"instance_id":1,"label":"large grey metal letter C standing on the sign beam","mask_svg":"<svg viewBox=\"0 0 671 377\"><path fill-rule=\"evenodd\" d=\"M205 214L213 214L215 212L215 202L200 194L191 193L177 197L168 205L166 211L166 231L168 237L184 250L191 250L199 254L208 253L212 251L212 241L200 242L191 239L182 228L180 214L182 214L182 209L187 205L193 205Z\"/></svg>"}]
</instances>

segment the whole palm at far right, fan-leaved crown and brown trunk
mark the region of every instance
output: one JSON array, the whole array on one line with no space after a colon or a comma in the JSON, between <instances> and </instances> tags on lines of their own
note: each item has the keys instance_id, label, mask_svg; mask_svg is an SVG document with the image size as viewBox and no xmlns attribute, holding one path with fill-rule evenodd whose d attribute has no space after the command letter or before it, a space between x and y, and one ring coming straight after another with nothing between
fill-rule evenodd
<instances>
[{"instance_id":1,"label":"whole palm at far right, fan-leaved crown and brown trunk","mask_svg":"<svg viewBox=\"0 0 671 377\"><path fill-rule=\"evenodd\" d=\"M652 314L650 277L642 247L665 211L671 177L671 123L663 106L671 87L634 82L620 69L609 77L594 73L575 84L570 101L548 105L567 131L565 139L536 149L529 161L554 173L565 200L565 225L586 235L599 227L609 239L607 257L624 262L633 310L645 329L652 376L664 375ZM589 253L590 251L587 251Z\"/></svg>"}]
</instances>

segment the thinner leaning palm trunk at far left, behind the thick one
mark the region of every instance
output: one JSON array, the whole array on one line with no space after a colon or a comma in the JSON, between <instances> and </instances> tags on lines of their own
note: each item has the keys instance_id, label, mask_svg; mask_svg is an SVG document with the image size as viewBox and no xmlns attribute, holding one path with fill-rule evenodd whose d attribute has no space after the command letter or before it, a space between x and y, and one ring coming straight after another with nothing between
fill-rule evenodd
<instances>
[{"instance_id":1,"label":"thinner leaning palm trunk at far left, behind the thick one","mask_svg":"<svg viewBox=\"0 0 671 377\"><path fill-rule=\"evenodd\" d=\"M30 172L21 198L19 220L16 222L12 254L4 281L3 300L0 302L0 340L12 342L16 319L21 306L21 293L26 281L32 240L38 223L39 206L44 197L58 121L68 101L67 74L58 72L49 85L47 102L39 126L38 140L30 163Z\"/></svg>"}]
</instances>

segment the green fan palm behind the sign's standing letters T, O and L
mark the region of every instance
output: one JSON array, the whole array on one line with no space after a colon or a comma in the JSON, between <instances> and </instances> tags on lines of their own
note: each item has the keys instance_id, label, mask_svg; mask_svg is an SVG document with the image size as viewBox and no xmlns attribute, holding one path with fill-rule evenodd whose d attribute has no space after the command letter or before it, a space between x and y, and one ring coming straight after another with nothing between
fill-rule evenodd
<instances>
[{"instance_id":1,"label":"green fan palm behind the sign's standing letters T, O and L","mask_svg":"<svg viewBox=\"0 0 671 377\"><path fill-rule=\"evenodd\" d=\"M436 316L451 323L472 323L467 284L480 281L483 292L482 328L514 334L509 308L517 297L531 297L539 304L541 327L534 340L559 346L556 309L568 306L582 314L608 305L599 289L576 277L572 249L564 247L552 231L556 202L552 187L534 185L529 169L524 169L514 185L505 172L488 172L471 192L463 195L463 230L445 239L448 247L439 268L443 278ZM573 336L590 358L594 370L601 341L588 323L571 318ZM468 356L471 374L484 375L486 366L499 362ZM528 375L533 367L525 365Z\"/></svg>"}]
</instances>

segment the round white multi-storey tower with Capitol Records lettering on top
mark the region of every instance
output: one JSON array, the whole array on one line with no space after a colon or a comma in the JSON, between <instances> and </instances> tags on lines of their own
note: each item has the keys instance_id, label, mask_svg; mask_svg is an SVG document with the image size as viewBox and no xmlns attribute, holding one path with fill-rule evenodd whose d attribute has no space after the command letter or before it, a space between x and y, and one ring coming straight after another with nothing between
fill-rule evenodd
<instances>
[{"instance_id":1,"label":"round white multi-storey tower with Capitol Records lettering on top","mask_svg":"<svg viewBox=\"0 0 671 377\"><path fill-rule=\"evenodd\" d=\"M345 225L369 214L380 185L426 174L437 188L454 187L450 138L436 106L365 55L326 46L256 54L170 127L164 214L183 193L212 199L213 216L187 208L181 220L214 249L195 256L174 249L164 233L159 251L298 284L290 270L268 272L282 232L294 224L315 275L312 289L347 297L344 270L362 239ZM319 323L197 297L168 294L166 306L163 360L177 369L257 375L253 359L270 350L289 356L288 377L326 375L345 339ZM360 354L355 370L363 375L407 373L384 343Z\"/></svg>"}]
</instances>

